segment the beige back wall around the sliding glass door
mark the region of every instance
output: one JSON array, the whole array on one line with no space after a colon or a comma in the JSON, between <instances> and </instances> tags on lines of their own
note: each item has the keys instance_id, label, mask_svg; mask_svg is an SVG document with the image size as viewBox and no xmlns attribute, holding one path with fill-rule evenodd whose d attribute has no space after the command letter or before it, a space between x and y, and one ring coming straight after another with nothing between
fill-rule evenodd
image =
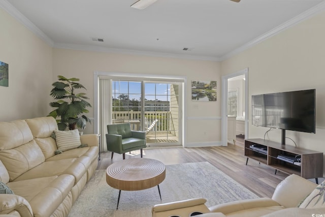
<instances>
[{"instance_id":1,"label":"beige back wall around the sliding glass door","mask_svg":"<svg viewBox=\"0 0 325 217\"><path fill-rule=\"evenodd\" d=\"M80 78L80 82L87 88L86 93L92 105L94 102L94 72L186 76L187 117L185 119L187 131L185 132L185 137L187 143L197 146L203 143L217 144L220 142L220 120L213 121L214 123L210 128L211 120L206 119L207 117L215 119L220 117L220 63L215 61L53 49L53 80L56 80L58 75ZM192 102L190 95L191 80L216 80L218 84L218 101ZM94 116L93 109L90 109L88 116L90 118ZM192 119L187 120L188 118ZM88 126L86 133L92 129L93 126Z\"/></svg>"}]
</instances>

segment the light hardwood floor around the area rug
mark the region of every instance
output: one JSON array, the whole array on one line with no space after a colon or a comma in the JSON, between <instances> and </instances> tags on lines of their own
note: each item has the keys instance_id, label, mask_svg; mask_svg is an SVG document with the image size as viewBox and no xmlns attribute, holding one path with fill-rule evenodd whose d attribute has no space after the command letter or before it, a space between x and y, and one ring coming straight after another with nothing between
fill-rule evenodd
<instances>
[{"instance_id":1,"label":"light hardwood floor around the area rug","mask_svg":"<svg viewBox=\"0 0 325 217\"><path fill-rule=\"evenodd\" d=\"M244 145L241 139L236 141L236 145L228 144L226 147L145 148L143 157L156 159L166 165L207 161L259 197L272 197L276 185L287 176L280 171L275 175L273 168L259 164L253 159L249 159L246 166ZM132 154L126 153L125 158L140 158L140 150L133 151ZM122 154L115 153L111 160L111 152L102 152L97 169L106 169L110 164L120 160L122 160Z\"/></svg>"}]
</instances>

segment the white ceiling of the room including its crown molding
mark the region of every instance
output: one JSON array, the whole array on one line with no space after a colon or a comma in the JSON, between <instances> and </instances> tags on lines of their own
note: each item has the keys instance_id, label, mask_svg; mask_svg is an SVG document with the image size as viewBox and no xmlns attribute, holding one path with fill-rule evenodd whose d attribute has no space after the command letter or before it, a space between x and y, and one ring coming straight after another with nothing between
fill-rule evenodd
<instances>
[{"instance_id":1,"label":"white ceiling of the room including its crown molding","mask_svg":"<svg viewBox=\"0 0 325 217\"><path fill-rule=\"evenodd\" d=\"M129 7L134 2L0 0L0 7L53 47L207 60L225 59L325 8L324 0L158 0L144 10Z\"/></svg>"}]
</instances>

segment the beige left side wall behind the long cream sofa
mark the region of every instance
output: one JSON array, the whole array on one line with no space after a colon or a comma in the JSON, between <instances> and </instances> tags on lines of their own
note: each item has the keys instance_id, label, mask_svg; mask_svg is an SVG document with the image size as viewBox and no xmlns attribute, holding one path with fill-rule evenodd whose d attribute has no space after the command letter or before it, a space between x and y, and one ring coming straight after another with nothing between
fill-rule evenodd
<instances>
[{"instance_id":1,"label":"beige left side wall behind the long cream sofa","mask_svg":"<svg viewBox=\"0 0 325 217\"><path fill-rule=\"evenodd\" d=\"M0 8L0 60L9 87L0 86L0 121L46 116L52 84L52 48Z\"/></svg>"}]
</instances>

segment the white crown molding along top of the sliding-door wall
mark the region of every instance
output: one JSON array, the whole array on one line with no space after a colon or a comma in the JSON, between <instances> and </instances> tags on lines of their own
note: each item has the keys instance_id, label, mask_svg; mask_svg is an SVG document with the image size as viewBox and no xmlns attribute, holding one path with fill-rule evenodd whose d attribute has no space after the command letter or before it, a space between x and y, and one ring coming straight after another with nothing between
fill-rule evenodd
<instances>
[{"instance_id":1,"label":"white crown molding along top of the sliding-door wall","mask_svg":"<svg viewBox=\"0 0 325 217\"><path fill-rule=\"evenodd\" d=\"M109 48L109 47L93 46L93 45L54 43L53 47L60 48L60 49L86 50L86 51L105 52L105 53L121 53L121 54L167 57L167 58L220 61L219 57L213 57L213 56L198 56L198 55L185 55L185 54L175 54L175 53L150 52L150 51L141 51L141 50L117 49L117 48Z\"/></svg>"}]
</instances>

